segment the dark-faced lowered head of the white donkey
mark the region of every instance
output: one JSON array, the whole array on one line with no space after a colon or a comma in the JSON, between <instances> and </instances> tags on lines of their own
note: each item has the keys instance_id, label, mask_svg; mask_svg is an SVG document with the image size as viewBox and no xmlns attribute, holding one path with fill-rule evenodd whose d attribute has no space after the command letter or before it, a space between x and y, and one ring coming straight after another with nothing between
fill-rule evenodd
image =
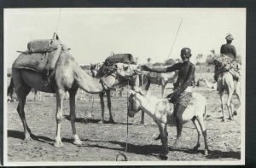
<instances>
[{"instance_id":1,"label":"dark-faced lowered head of the white donkey","mask_svg":"<svg viewBox=\"0 0 256 168\"><path fill-rule=\"evenodd\" d=\"M128 116L134 117L134 114L140 110L140 103L137 101L138 92L130 90L130 96L128 98Z\"/></svg>"}]
</instances>

